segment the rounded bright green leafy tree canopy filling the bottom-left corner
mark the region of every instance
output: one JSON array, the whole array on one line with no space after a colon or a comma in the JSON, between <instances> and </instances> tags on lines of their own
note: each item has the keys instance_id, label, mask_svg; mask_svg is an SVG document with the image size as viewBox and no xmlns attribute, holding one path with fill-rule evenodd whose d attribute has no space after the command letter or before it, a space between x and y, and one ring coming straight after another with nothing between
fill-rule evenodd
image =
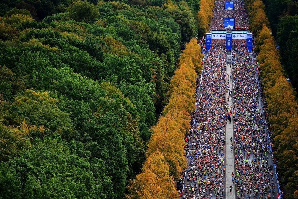
<instances>
[{"instance_id":1,"label":"rounded bright green leafy tree canopy filling the bottom-left corner","mask_svg":"<svg viewBox=\"0 0 298 199\"><path fill-rule=\"evenodd\" d=\"M35 140L21 157L2 162L0 173L3 198L113 198L103 161L57 135Z\"/></svg>"}]
</instances>

